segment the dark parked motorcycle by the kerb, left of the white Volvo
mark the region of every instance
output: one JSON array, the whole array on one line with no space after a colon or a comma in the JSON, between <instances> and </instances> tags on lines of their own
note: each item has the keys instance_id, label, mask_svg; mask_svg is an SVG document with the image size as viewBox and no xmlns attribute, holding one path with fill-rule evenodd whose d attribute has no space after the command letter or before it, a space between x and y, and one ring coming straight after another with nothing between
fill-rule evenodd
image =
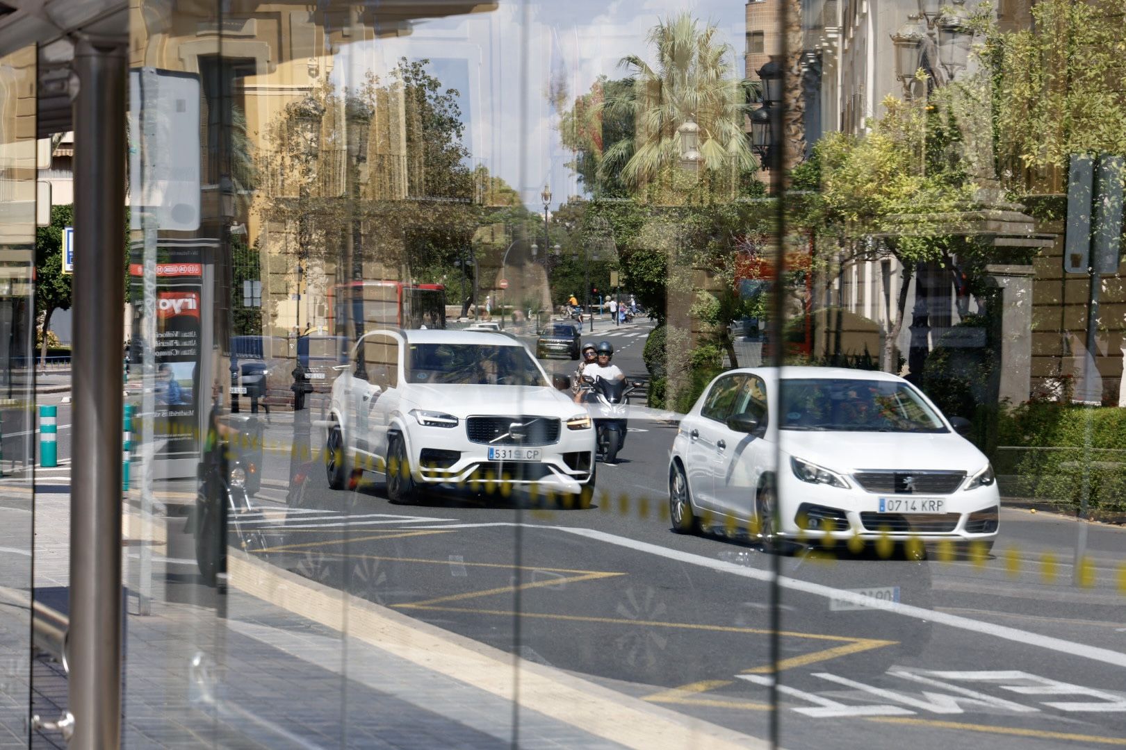
<instances>
[{"instance_id":1,"label":"dark parked motorcycle by the kerb, left of the white Volvo","mask_svg":"<svg viewBox=\"0 0 1126 750\"><path fill-rule=\"evenodd\" d=\"M196 535L196 563L207 586L226 572L226 546L232 541L242 550L268 546L261 530L245 527L260 521L250 498L261 486L262 424L254 416L223 418L236 427L238 436L226 444L216 434L214 444L199 464L199 489L189 527ZM216 431L217 433L217 431Z\"/></svg>"}]
</instances>

